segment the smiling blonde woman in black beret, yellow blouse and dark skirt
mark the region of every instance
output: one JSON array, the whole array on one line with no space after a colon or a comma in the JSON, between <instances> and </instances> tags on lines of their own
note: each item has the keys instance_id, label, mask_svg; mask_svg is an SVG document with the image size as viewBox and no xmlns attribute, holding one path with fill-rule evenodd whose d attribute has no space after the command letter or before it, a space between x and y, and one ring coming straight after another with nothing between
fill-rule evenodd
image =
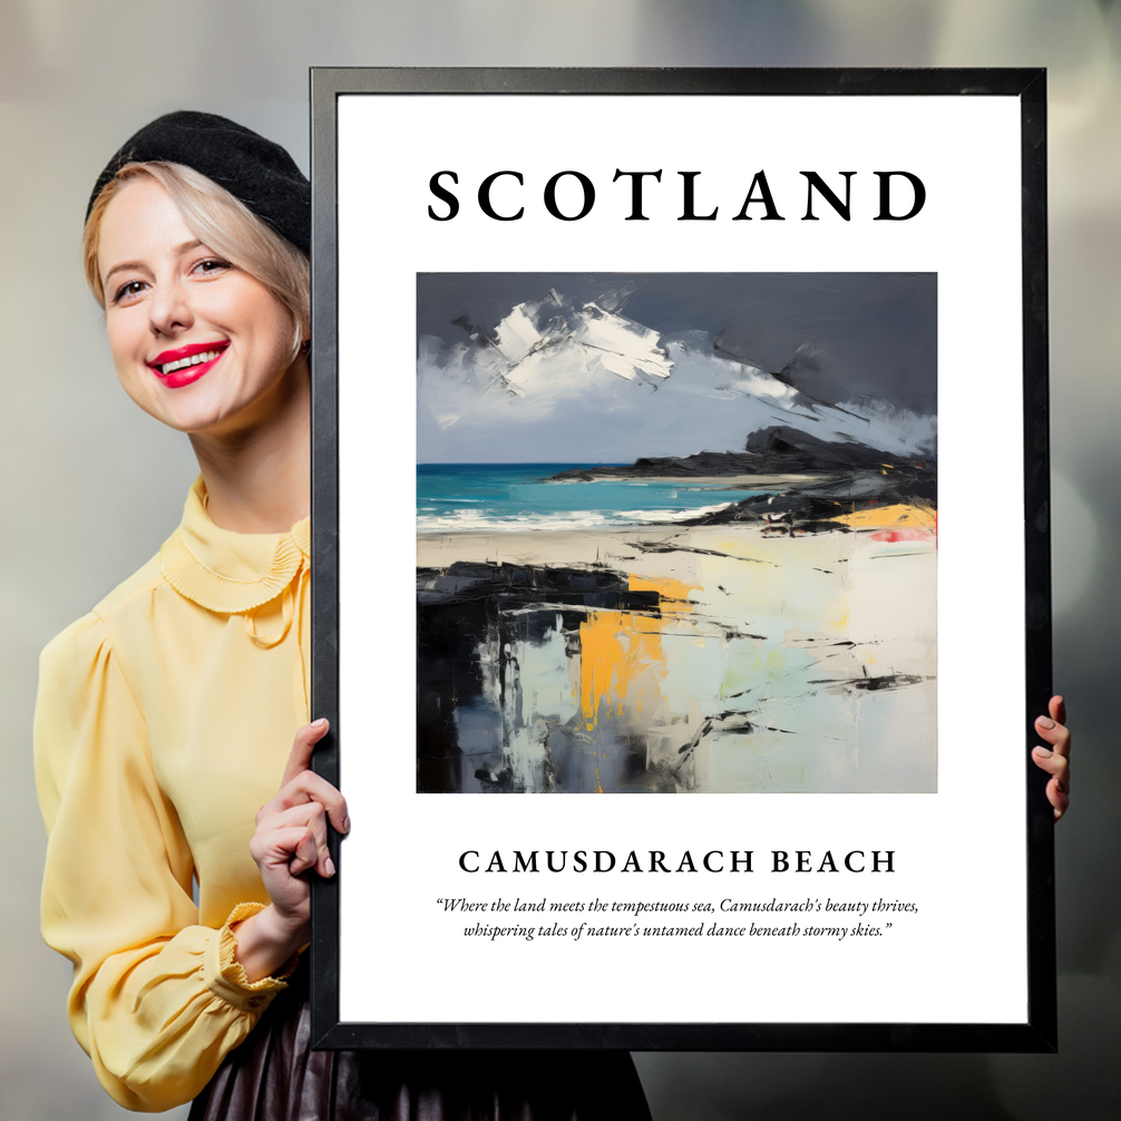
<instances>
[{"instance_id":1,"label":"smiling blonde woman in black beret, yellow blouse and dark skirt","mask_svg":"<svg viewBox=\"0 0 1121 1121\"><path fill-rule=\"evenodd\" d=\"M647 1119L626 1054L308 1051L308 876L350 826L308 769L309 226L288 154L205 113L141 129L91 197L118 377L201 475L158 556L43 655L43 929L74 1034L135 1110Z\"/></svg>"}]
</instances>

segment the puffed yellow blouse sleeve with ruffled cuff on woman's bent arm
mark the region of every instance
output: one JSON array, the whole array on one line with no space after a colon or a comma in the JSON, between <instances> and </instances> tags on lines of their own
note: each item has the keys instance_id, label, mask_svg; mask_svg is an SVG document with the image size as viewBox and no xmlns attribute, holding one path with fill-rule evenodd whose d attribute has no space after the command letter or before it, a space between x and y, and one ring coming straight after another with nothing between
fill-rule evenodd
<instances>
[{"instance_id":1,"label":"puffed yellow blouse sleeve with ruffled cuff on woman's bent arm","mask_svg":"<svg viewBox=\"0 0 1121 1121\"><path fill-rule=\"evenodd\" d=\"M284 982L233 960L235 908L198 925L193 861L156 782L143 715L105 626L86 615L43 652L35 772L47 826L43 936L71 960L71 1028L130 1110L189 1101Z\"/></svg>"}]
</instances>

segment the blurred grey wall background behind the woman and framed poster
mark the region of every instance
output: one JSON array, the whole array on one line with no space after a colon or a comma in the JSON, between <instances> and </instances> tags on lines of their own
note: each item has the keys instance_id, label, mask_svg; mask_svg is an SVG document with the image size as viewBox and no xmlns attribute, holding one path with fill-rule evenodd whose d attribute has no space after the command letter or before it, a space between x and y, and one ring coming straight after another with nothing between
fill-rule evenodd
<instances>
[{"instance_id":1,"label":"blurred grey wall background behind the woman and framed poster","mask_svg":"<svg viewBox=\"0 0 1121 1121\"><path fill-rule=\"evenodd\" d=\"M1121 1117L1121 4L1112 0L0 3L0 760L9 791L0 1117L121 1113L71 1038L68 967L38 935L36 658L155 552L195 471L186 441L117 386L78 265L86 195L127 136L180 108L243 121L306 166L309 65L1049 67L1056 687L1077 739L1074 808L1058 831L1062 1054L638 1063L658 1121ZM943 734L971 733L963 722Z\"/></svg>"}]
</instances>

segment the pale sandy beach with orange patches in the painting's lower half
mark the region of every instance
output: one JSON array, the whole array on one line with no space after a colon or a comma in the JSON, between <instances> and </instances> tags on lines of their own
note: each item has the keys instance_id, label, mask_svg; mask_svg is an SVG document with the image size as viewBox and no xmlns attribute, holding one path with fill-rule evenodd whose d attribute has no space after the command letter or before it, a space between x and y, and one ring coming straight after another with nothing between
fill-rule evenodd
<instances>
[{"instance_id":1,"label":"pale sandy beach with orange patches in the painting's lower half","mask_svg":"<svg viewBox=\"0 0 1121 1121\"><path fill-rule=\"evenodd\" d=\"M932 516L850 520L795 536L749 524L418 536L429 576L520 568L555 584L586 569L646 597L627 610L555 589L516 606L492 595L497 622L471 655L489 668L455 729L483 778L462 788L491 775L563 791L936 789Z\"/></svg>"}]
</instances>

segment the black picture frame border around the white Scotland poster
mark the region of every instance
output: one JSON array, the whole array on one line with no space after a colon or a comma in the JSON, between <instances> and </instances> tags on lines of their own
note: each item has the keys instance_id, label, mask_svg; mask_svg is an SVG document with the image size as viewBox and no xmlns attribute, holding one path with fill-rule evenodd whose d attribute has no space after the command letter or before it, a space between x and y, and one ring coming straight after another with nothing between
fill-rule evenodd
<instances>
[{"instance_id":1,"label":"black picture frame border around the white Scotland poster","mask_svg":"<svg viewBox=\"0 0 1121 1121\"><path fill-rule=\"evenodd\" d=\"M1057 1047L1054 841L1046 776L1030 761L1036 714L1050 696L1050 550L1046 225L1046 74L1041 70L313 68L313 675L312 710L332 721L315 769L346 793L340 722L339 244L336 113L341 96L509 94L1016 98L1021 128L1022 390L1028 1008L1022 1022L355 1022L340 1017L339 876L313 887L312 1028L318 1048L626 1048L640 1050L1050 1051ZM396 157L395 157L396 158ZM559 165L558 165L559 166ZM371 970L396 967L372 957ZM438 971L418 976L438 983Z\"/></svg>"}]
</instances>

